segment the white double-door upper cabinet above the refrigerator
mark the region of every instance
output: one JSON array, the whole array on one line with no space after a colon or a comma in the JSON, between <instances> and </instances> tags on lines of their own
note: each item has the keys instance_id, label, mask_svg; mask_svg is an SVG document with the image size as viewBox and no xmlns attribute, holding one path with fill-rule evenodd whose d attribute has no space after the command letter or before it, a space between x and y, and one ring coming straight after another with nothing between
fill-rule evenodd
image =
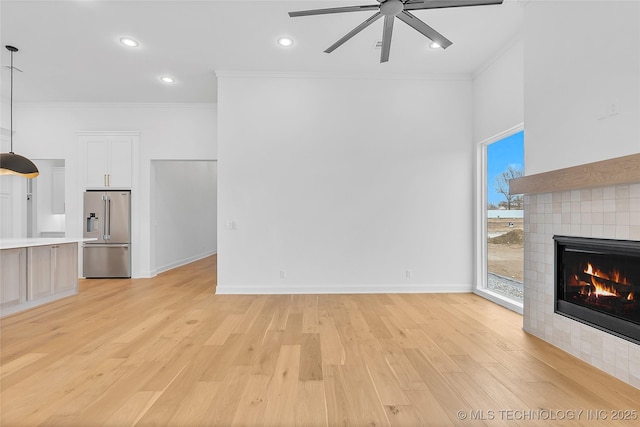
<instances>
[{"instance_id":1,"label":"white double-door upper cabinet above the refrigerator","mask_svg":"<svg viewBox=\"0 0 640 427\"><path fill-rule=\"evenodd\" d=\"M129 189L132 181L133 134L81 134L86 188Z\"/></svg>"}]
</instances>

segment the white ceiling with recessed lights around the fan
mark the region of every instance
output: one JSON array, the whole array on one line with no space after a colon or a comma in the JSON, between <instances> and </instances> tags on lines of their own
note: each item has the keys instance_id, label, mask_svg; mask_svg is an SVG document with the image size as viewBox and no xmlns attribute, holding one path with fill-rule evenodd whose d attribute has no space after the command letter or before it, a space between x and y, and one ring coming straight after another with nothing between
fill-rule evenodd
<instances>
[{"instance_id":1,"label":"white ceiling with recessed lights around the fan","mask_svg":"<svg viewBox=\"0 0 640 427\"><path fill-rule=\"evenodd\" d=\"M390 61L379 63L382 20L331 54L324 49L371 12L289 18L288 11L376 0L0 2L2 95L8 96L9 52L16 102L216 102L216 71L366 74L472 74L498 54L522 26L520 0L414 14L453 45L428 39L396 20ZM280 36L295 44L281 48ZM119 43L123 36L137 48ZM161 75L176 83L160 82Z\"/></svg>"}]
</instances>

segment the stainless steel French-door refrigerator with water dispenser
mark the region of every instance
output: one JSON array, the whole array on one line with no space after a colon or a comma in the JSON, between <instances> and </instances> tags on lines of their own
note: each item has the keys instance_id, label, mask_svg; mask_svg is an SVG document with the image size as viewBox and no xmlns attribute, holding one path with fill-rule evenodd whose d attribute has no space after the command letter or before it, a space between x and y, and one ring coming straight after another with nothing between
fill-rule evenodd
<instances>
[{"instance_id":1,"label":"stainless steel French-door refrigerator with water dispenser","mask_svg":"<svg viewBox=\"0 0 640 427\"><path fill-rule=\"evenodd\" d=\"M131 277L131 192L86 191L83 221L84 277Z\"/></svg>"}]
</instances>

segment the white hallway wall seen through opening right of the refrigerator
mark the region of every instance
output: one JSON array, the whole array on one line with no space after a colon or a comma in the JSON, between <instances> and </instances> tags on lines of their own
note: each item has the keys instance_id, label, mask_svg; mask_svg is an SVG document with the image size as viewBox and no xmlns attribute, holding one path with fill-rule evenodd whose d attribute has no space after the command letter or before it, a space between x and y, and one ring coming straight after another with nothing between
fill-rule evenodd
<instances>
[{"instance_id":1,"label":"white hallway wall seen through opening right of the refrigerator","mask_svg":"<svg viewBox=\"0 0 640 427\"><path fill-rule=\"evenodd\" d=\"M217 164L215 161L151 162L156 273L216 252Z\"/></svg>"}]
</instances>

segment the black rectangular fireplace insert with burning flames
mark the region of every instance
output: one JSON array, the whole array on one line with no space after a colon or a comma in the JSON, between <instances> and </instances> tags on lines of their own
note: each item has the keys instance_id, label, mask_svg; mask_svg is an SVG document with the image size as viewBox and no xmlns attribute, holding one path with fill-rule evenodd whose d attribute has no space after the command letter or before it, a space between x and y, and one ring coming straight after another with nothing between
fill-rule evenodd
<instances>
[{"instance_id":1,"label":"black rectangular fireplace insert with burning flames","mask_svg":"<svg viewBox=\"0 0 640 427\"><path fill-rule=\"evenodd\" d=\"M553 239L555 312L640 343L640 242Z\"/></svg>"}]
</instances>

